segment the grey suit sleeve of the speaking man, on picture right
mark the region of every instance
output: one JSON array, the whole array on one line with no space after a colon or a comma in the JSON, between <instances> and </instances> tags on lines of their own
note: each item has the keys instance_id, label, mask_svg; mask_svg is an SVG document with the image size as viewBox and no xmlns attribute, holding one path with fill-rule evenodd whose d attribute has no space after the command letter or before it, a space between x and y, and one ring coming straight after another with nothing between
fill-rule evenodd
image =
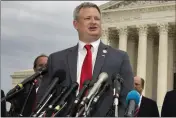
<instances>
[{"instance_id":1,"label":"grey suit sleeve of the speaking man, on picture right","mask_svg":"<svg viewBox=\"0 0 176 118\"><path fill-rule=\"evenodd\" d=\"M124 83L123 83L122 90L120 93L119 107L121 109L119 109L119 112L121 112L121 114L124 114L125 108L126 108L126 96L129 91L134 89L133 72L132 72L132 68L130 65L129 57L126 52L124 53L124 56L123 56L123 62L120 68L120 75L124 79Z\"/></svg>"}]
</instances>

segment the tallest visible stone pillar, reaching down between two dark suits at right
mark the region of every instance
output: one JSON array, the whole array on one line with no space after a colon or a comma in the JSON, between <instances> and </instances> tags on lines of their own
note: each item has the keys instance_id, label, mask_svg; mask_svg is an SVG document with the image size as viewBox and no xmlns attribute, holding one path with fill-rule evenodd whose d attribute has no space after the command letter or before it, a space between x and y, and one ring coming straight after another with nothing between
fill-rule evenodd
<instances>
[{"instance_id":1,"label":"tallest visible stone pillar, reaching down between two dark suits at right","mask_svg":"<svg viewBox=\"0 0 176 118\"><path fill-rule=\"evenodd\" d=\"M168 77L168 24L159 23L159 55L158 55L158 81L157 81L157 104L161 110L164 96L167 92Z\"/></svg>"}]
</instances>

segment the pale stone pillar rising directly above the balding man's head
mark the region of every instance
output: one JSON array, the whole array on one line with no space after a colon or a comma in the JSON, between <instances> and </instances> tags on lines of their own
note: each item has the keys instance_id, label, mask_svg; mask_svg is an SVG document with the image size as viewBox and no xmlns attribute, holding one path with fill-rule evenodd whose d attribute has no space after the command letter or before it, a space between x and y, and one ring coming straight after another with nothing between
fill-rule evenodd
<instances>
[{"instance_id":1,"label":"pale stone pillar rising directly above the balding man's head","mask_svg":"<svg viewBox=\"0 0 176 118\"><path fill-rule=\"evenodd\" d=\"M147 61L147 25L137 26L139 32L137 75L146 80L146 61ZM145 95L145 86L143 90Z\"/></svg>"}]
</instances>

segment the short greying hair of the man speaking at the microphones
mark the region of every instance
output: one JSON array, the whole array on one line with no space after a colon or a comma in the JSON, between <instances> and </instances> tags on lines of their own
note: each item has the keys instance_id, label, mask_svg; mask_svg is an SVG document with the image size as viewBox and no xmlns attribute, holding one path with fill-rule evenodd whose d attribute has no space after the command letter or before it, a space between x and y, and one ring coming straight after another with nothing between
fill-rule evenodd
<instances>
[{"instance_id":1,"label":"short greying hair of the man speaking at the microphones","mask_svg":"<svg viewBox=\"0 0 176 118\"><path fill-rule=\"evenodd\" d=\"M101 14L100 8L96 4L91 3L91 2L83 2L75 8L75 10L73 12L73 19L74 20L78 20L79 12L82 8L96 8L98 10L98 12Z\"/></svg>"}]
</instances>

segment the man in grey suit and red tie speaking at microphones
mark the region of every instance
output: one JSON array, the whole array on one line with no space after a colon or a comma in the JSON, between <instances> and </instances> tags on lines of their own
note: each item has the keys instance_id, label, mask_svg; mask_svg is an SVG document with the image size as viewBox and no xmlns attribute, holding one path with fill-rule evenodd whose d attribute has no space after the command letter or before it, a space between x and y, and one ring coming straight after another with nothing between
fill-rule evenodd
<instances>
[{"instance_id":1,"label":"man in grey suit and red tie speaking at microphones","mask_svg":"<svg viewBox=\"0 0 176 118\"><path fill-rule=\"evenodd\" d=\"M96 4L85 2L77 6L74 10L73 25L78 31L79 42L74 47L52 53L49 56L49 76L52 77L57 70L63 69L66 71L66 79L60 86L72 82L78 82L81 86L82 78L85 80L90 77L89 79L96 80L101 72L107 72L108 82L112 85L111 75L119 73L124 79L119 98L119 116L124 116L125 99L127 93L133 89L133 73L127 53L113 49L101 42L101 13ZM104 117L107 115L113 104L112 89L113 87L104 93L92 116ZM70 97L70 99L74 98Z\"/></svg>"}]
</instances>

